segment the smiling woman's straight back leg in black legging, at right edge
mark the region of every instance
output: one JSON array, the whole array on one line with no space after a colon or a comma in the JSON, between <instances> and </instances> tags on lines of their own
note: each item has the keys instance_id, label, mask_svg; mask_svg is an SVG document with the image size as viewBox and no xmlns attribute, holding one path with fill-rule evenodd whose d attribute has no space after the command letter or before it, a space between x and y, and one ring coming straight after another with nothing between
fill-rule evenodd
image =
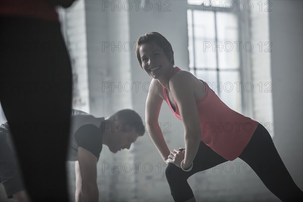
<instances>
[{"instance_id":1,"label":"smiling woman's straight back leg in black legging, at right edge","mask_svg":"<svg viewBox=\"0 0 303 202\"><path fill-rule=\"evenodd\" d=\"M261 124L239 156L282 201L302 201L303 192L292 180L270 134Z\"/></svg>"}]
</instances>

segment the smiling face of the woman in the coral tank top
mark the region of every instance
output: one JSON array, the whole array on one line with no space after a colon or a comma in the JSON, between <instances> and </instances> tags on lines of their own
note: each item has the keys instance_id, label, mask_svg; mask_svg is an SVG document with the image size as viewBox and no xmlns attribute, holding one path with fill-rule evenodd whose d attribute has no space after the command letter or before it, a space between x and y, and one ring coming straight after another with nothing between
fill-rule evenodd
<instances>
[{"instance_id":1,"label":"smiling face of the woman in the coral tank top","mask_svg":"<svg viewBox=\"0 0 303 202\"><path fill-rule=\"evenodd\" d=\"M139 53L143 70L154 79L159 79L170 66L173 66L163 49L154 41L140 45Z\"/></svg>"}]
</instances>

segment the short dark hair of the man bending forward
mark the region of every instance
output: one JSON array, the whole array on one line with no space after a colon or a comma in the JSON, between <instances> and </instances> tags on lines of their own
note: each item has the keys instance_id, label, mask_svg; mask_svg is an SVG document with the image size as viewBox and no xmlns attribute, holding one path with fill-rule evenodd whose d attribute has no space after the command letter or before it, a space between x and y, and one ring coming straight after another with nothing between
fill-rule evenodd
<instances>
[{"instance_id":1,"label":"short dark hair of the man bending forward","mask_svg":"<svg viewBox=\"0 0 303 202\"><path fill-rule=\"evenodd\" d=\"M112 116L110 116L109 119L112 122L120 121L122 124L130 125L132 129L135 129L136 133L139 136L143 136L145 133L145 127L143 125L142 119L140 115L136 113L134 110L130 110L130 109L120 110L115 114L113 114ZM122 127L122 130L124 130L124 127Z\"/></svg>"}]
</instances>

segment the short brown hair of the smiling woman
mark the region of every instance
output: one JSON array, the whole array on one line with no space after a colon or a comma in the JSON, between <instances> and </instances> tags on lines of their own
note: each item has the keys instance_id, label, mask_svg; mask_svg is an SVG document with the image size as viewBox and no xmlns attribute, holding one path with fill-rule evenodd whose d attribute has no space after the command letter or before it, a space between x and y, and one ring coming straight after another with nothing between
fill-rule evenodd
<instances>
[{"instance_id":1,"label":"short brown hair of the smiling woman","mask_svg":"<svg viewBox=\"0 0 303 202\"><path fill-rule=\"evenodd\" d=\"M173 65L175 65L174 60L174 51L171 43L160 33L158 32L150 32L143 36L140 36L136 42L136 56L139 61L140 66L142 67L142 61L139 53L140 45L148 42L156 42L161 49L164 51L167 59L171 61Z\"/></svg>"}]
</instances>

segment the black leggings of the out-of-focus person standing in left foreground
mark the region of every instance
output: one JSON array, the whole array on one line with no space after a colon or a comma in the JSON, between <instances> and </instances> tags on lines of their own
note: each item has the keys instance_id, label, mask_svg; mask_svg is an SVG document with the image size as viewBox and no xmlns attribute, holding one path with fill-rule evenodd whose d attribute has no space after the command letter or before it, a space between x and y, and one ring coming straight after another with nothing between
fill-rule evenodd
<instances>
[{"instance_id":1,"label":"black leggings of the out-of-focus person standing in left foreground","mask_svg":"<svg viewBox=\"0 0 303 202\"><path fill-rule=\"evenodd\" d=\"M0 17L0 101L32 201L67 201L72 69L59 22Z\"/></svg>"}]
</instances>

